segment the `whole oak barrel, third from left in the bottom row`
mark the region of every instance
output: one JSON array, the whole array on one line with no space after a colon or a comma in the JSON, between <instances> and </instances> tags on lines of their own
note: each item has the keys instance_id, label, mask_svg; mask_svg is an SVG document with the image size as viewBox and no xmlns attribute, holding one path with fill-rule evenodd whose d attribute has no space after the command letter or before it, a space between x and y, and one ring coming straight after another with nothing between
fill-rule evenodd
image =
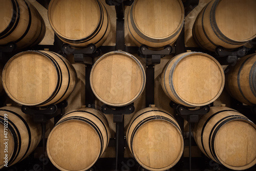
<instances>
[{"instance_id":1,"label":"whole oak barrel, third from left in the bottom row","mask_svg":"<svg viewBox=\"0 0 256 171\"><path fill-rule=\"evenodd\" d=\"M181 158L184 142L175 118L165 110L150 107L138 111L126 131L129 148L148 170L167 170Z\"/></svg>"}]
</instances>

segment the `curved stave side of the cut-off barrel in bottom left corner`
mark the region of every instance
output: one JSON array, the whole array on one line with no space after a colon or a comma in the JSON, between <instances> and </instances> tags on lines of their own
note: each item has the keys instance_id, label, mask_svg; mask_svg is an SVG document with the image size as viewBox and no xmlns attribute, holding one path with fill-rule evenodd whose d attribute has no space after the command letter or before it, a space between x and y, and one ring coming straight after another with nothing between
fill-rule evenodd
<instances>
[{"instance_id":1,"label":"curved stave side of the cut-off barrel in bottom left corner","mask_svg":"<svg viewBox=\"0 0 256 171\"><path fill-rule=\"evenodd\" d=\"M23 113L18 106L2 107L0 112L0 120L4 119L4 113L8 114L8 136L12 135L14 141L13 146L8 143L8 151L14 152L16 149L15 154L12 153L11 156L8 156L8 166L11 166L22 161L35 150L42 137L42 128L40 124L34 123L30 115ZM8 139L10 142L10 138ZM22 145L20 145L21 142ZM0 168L3 167L4 165L0 165Z\"/></svg>"}]
</instances>

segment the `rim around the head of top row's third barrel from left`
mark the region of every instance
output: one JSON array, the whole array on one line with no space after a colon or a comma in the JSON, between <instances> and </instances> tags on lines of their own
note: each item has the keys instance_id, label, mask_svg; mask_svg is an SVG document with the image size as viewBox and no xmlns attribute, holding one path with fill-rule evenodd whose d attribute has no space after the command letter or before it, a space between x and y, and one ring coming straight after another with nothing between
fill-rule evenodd
<instances>
[{"instance_id":1,"label":"rim around the head of top row's third barrel from left","mask_svg":"<svg viewBox=\"0 0 256 171\"><path fill-rule=\"evenodd\" d=\"M149 36L147 34L145 34L137 25L136 20L134 19L133 15L134 15L134 6L137 4L138 1L135 1L132 5L132 7L129 10L129 16L127 19L127 22L132 23L132 28L135 30L135 32L140 36L140 37L144 37L146 40L150 40L152 42L164 42L167 41L169 39L174 38L175 36L177 36L179 34L179 32L181 31L183 25L184 25L184 6L182 4L182 2L180 0L177 0L180 3L180 7L181 7L181 11L182 11L182 16L181 16L181 20L179 22L179 26L174 30L174 32L172 34L169 34L165 37L153 37L153 36ZM128 28L129 28L129 24L127 24ZM136 26L136 27L135 27Z\"/></svg>"}]
</instances>

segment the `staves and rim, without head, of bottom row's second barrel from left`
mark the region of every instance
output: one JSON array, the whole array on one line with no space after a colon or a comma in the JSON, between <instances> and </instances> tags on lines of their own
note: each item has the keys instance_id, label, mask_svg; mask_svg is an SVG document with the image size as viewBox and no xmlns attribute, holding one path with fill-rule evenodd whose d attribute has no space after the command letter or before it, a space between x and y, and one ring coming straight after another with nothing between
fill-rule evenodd
<instances>
[{"instance_id":1,"label":"staves and rim, without head, of bottom row's second barrel from left","mask_svg":"<svg viewBox=\"0 0 256 171\"><path fill-rule=\"evenodd\" d=\"M89 117L90 116L90 117ZM92 119L92 123L96 124L98 127L99 127L99 131L101 133L104 133L104 137L102 139L102 149L101 149L101 152L98 154L98 157L97 159L100 158L100 156L104 153L105 149L107 148L108 146L108 143L109 143L109 140L110 140L110 128L109 128L109 123L108 123L108 120L106 119L105 115L103 113L101 113L99 110L96 110L96 109L93 109L93 108L80 108L78 110L72 110L68 113L66 113L65 115L63 115L61 117L61 119L58 121L58 123L55 125L55 127L52 129L52 131L50 132L50 135L48 137L48 141L47 141L47 154L48 154L48 157L49 159L51 160L51 162L53 163L53 165L55 167L57 167L58 169L60 170L65 170L65 171L68 171L70 169L66 169L66 168L63 168L63 167L60 167L55 161L54 159L52 158L52 155L50 153L50 148L49 148L49 143L50 143L50 140L52 138L52 134L53 132L57 129L57 127L60 125L60 124L65 124L66 121L69 121L72 119L79 119L81 117L87 117L87 118L90 118ZM89 119L89 120L90 120ZM82 121L82 120L80 120ZM71 139L71 141L73 141L73 139ZM67 156L69 158L69 156ZM80 156L77 156L78 158ZM93 164L97 161L97 159L91 163L90 165L88 166L84 166L83 169L80 169L80 170L87 170L89 169L90 167L93 166ZM72 169L73 170L73 169Z\"/></svg>"}]
</instances>

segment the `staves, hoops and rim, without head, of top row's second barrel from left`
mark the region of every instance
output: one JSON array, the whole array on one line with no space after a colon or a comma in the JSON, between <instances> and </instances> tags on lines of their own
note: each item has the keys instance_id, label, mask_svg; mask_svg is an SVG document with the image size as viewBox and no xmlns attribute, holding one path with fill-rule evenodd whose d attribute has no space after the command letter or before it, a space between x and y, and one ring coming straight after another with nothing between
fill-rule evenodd
<instances>
[{"instance_id":1,"label":"staves, hoops and rim, without head, of top row's second barrel from left","mask_svg":"<svg viewBox=\"0 0 256 171\"><path fill-rule=\"evenodd\" d=\"M68 43L74 47L87 47L89 44L95 44L96 47L99 47L102 45L105 40L108 38L108 35L110 33L110 16L108 14L108 11L106 10L105 6L98 0L95 0L95 2L98 4L98 7L100 9L100 12L102 17L100 18L100 22L98 23L98 26L96 27L96 30L90 34L87 35L86 37L81 37L80 39L73 39L69 38L65 35L62 35L58 32L58 30L54 27L54 24L52 23L51 20L51 8L54 0L52 0L49 4L49 9L48 9L48 19L51 25L51 28L53 29L54 33L56 36L63 42ZM105 29L101 29L105 28Z\"/></svg>"}]
</instances>

